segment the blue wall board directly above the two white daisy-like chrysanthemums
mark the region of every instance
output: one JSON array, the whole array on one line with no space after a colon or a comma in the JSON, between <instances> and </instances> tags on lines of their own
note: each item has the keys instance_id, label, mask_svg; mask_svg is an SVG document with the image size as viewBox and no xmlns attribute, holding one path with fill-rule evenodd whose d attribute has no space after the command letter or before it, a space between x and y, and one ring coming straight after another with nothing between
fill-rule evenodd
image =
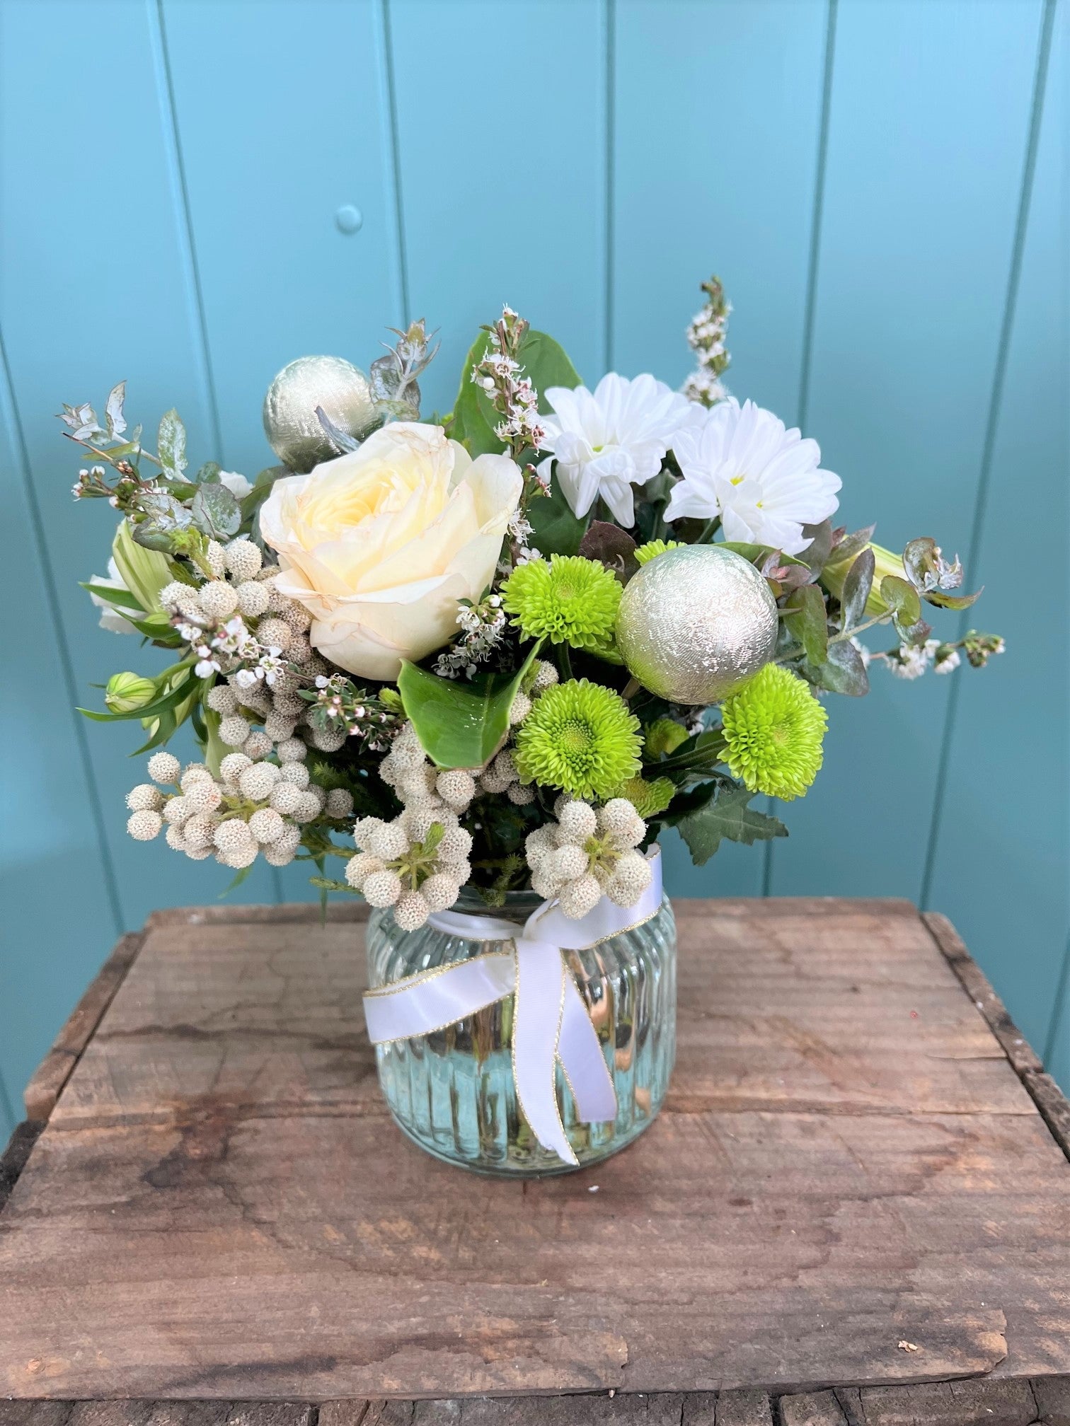
<instances>
[{"instance_id":1,"label":"blue wall board directly above the two white daisy-like chrysanthemums","mask_svg":"<svg viewBox=\"0 0 1070 1426\"><path fill-rule=\"evenodd\" d=\"M825 0L621 0L615 26L611 365L678 386L716 271L735 304L730 389L796 419L816 181ZM762 890L762 847L693 867L678 894Z\"/></svg>"}]
</instances>

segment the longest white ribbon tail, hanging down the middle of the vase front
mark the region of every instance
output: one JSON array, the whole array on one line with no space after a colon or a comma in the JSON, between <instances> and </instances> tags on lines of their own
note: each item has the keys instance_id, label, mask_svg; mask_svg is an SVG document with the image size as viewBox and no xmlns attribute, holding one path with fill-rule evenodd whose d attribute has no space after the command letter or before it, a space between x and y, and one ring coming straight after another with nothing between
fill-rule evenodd
<instances>
[{"instance_id":1,"label":"longest white ribbon tail, hanging down the middle of the vase front","mask_svg":"<svg viewBox=\"0 0 1070 1426\"><path fill-rule=\"evenodd\" d=\"M516 1000L512 1030L512 1074L516 1098L539 1144L566 1164L578 1165L561 1122L556 1092L558 1040L565 983L571 977L556 945L516 941ZM593 1028L593 1027L592 1027Z\"/></svg>"}]
</instances>

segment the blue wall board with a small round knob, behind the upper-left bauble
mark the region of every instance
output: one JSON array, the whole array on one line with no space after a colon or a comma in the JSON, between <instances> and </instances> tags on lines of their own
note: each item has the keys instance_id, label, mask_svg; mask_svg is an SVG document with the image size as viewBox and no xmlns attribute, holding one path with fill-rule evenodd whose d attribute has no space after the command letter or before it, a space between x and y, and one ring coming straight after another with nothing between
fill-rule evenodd
<instances>
[{"instance_id":1,"label":"blue wall board with a small round knob, behind the upper-left bauble","mask_svg":"<svg viewBox=\"0 0 1070 1426\"><path fill-rule=\"evenodd\" d=\"M163 16L221 459L254 478L275 463L274 374L312 354L367 371L401 322L379 6L165 0ZM280 880L287 900L318 896L304 863Z\"/></svg>"}]
</instances>

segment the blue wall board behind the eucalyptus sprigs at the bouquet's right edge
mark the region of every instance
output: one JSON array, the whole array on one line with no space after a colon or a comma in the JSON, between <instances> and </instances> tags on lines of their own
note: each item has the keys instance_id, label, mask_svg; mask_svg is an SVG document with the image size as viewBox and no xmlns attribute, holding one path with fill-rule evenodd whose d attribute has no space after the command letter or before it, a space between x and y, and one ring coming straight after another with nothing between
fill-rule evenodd
<instances>
[{"instance_id":1,"label":"blue wall board behind the eucalyptus sprigs at the bouquet's right edge","mask_svg":"<svg viewBox=\"0 0 1070 1426\"><path fill-rule=\"evenodd\" d=\"M1039 31L1039 3L839 4L806 434L843 478L839 518L896 549L970 536ZM829 699L775 893L917 898L946 700L943 677L879 667L865 702Z\"/></svg>"}]
</instances>

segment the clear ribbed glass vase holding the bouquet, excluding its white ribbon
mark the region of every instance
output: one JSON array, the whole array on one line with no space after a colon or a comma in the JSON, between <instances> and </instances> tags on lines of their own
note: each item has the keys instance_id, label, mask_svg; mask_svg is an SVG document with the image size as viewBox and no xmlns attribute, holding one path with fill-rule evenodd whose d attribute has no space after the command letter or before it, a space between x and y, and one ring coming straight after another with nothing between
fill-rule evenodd
<instances>
[{"instance_id":1,"label":"clear ribbed glass vase holding the bouquet, excluding its white ribbon","mask_svg":"<svg viewBox=\"0 0 1070 1426\"><path fill-rule=\"evenodd\" d=\"M524 924L539 904L535 893L514 891L505 906L489 910L465 888L454 910ZM502 941L471 941L431 925L401 931L389 910L377 910L368 921L368 984L391 985L501 950ZM676 924L668 897L636 930L564 954L616 1089L613 1122L581 1124L558 1067L561 1118L586 1165L631 1144L665 1099L676 1057ZM515 1178L569 1172L571 1165L535 1139L516 1101L512 1011L509 995L447 1030L378 1045L379 1085L398 1125L435 1158Z\"/></svg>"}]
</instances>

